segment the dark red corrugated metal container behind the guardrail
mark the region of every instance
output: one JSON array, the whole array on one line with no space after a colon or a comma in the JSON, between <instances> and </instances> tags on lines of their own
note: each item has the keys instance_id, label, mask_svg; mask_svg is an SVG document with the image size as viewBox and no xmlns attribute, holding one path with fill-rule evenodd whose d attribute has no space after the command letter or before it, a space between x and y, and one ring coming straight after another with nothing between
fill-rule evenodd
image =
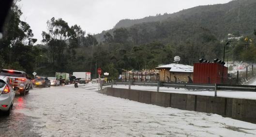
<instances>
[{"instance_id":1,"label":"dark red corrugated metal container behind the guardrail","mask_svg":"<svg viewBox=\"0 0 256 137\"><path fill-rule=\"evenodd\" d=\"M193 83L196 84L221 84L227 80L227 67L219 63L194 63Z\"/></svg>"}]
</instances>

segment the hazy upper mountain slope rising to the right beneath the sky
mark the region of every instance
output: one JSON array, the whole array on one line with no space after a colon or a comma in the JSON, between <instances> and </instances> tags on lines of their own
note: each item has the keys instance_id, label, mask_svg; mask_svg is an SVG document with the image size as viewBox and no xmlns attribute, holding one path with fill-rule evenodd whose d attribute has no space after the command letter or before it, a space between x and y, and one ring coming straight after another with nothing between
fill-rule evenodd
<instances>
[{"instance_id":1,"label":"hazy upper mountain slope rising to the right beneath the sky","mask_svg":"<svg viewBox=\"0 0 256 137\"><path fill-rule=\"evenodd\" d=\"M95 35L98 41L104 41L105 32L126 27L130 37L137 37L138 43L153 40L179 42L195 39L202 30L209 30L218 39L228 33L247 35L256 27L256 0L233 0L226 4L197 6L180 12L156 15L136 20L121 20L113 29ZM136 42L137 43L137 42Z\"/></svg>"}]
</instances>

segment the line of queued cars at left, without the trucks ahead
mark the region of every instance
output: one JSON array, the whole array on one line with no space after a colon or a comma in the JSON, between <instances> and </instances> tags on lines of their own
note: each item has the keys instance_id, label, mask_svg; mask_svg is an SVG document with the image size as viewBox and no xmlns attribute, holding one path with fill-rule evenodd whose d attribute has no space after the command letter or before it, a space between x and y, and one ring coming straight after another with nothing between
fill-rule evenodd
<instances>
[{"instance_id":1,"label":"line of queued cars at left, without the trucks ahead","mask_svg":"<svg viewBox=\"0 0 256 137\"><path fill-rule=\"evenodd\" d=\"M8 116L13 107L15 93L26 95L34 86L50 87L59 86L60 81L55 77L35 77L30 78L23 71L7 70L0 71L0 111Z\"/></svg>"}]
</instances>

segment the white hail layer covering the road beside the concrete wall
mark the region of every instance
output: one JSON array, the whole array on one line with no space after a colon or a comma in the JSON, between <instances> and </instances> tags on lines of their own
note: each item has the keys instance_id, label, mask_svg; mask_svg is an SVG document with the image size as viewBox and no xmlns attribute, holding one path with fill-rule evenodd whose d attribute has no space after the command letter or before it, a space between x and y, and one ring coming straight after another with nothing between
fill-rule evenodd
<instances>
[{"instance_id":1,"label":"white hail layer covering the road beside the concrete wall","mask_svg":"<svg viewBox=\"0 0 256 137\"><path fill-rule=\"evenodd\" d=\"M97 84L34 88L14 114L43 137L255 137L256 125L217 114L106 96Z\"/></svg>"}]
</instances>

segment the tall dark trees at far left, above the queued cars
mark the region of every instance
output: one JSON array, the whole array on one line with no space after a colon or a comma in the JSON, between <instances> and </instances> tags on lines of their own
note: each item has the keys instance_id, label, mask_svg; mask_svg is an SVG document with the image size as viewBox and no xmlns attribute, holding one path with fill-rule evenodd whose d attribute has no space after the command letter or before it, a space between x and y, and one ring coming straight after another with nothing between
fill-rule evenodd
<instances>
[{"instance_id":1,"label":"tall dark trees at far left, above the queued cars","mask_svg":"<svg viewBox=\"0 0 256 137\"><path fill-rule=\"evenodd\" d=\"M22 12L15 4L17 1L12 5L9 21L4 27L6 36L0 39L0 68L20 69L30 73L34 60L30 51L36 39L33 38L30 25L20 20Z\"/></svg>"}]
</instances>

